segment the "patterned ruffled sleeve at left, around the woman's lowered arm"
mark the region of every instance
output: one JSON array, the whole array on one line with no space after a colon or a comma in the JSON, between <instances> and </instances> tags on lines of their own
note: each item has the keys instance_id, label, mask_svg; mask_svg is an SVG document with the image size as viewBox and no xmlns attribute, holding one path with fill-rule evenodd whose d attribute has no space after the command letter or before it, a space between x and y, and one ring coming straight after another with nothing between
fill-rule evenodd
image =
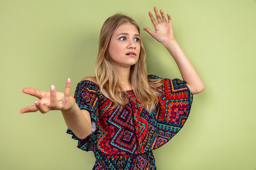
<instances>
[{"instance_id":1,"label":"patterned ruffled sleeve at left, around the woman's lowered arm","mask_svg":"<svg viewBox=\"0 0 256 170\"><path fill-rule=\"evenodd\" d=\"M88 80L79 82L76 86L74 98L76 104L79 106L80 109L87 110L90 113L92 126L96 126L96 130L99 129L97 125L99 113L98 85ZM72 132L70 128L67 128L67 133L72 135L72 139L78 140L77 148L85 151L92 150L92 146L95 143L95 133L90 134L85 139L79 139L78 137L76 137L76 135Z\"/></svg>"}]
</instances>

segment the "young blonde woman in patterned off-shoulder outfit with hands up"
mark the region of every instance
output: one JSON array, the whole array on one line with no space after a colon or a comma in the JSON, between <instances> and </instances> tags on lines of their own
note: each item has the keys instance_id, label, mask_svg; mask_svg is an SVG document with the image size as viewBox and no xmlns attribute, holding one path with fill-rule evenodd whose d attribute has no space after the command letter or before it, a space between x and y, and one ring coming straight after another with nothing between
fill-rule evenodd
<instances>
[{"instance_id":1,"label":"young blonde woman in patterned off-shoulder outfit with hands up","mask_svg":"<svg viewBox=\"0 0 256 170\"><path fill-rule=\"evenodd\" d=\"M92 150L93 170L155 170L153 149L169 141L184 125L193 95L204 83L175 41L171 16L154 7L149 12L155 32L147 31L173 56L182 78L162 79L146 73L146 55L139 27L132 18L115 14L102 28L95 77L78 83L70 96L70 79L65 92L24 88L38 97L20 113L61 110L67 133L78 140L78 148Z\"/></svg>"}]
</instances>

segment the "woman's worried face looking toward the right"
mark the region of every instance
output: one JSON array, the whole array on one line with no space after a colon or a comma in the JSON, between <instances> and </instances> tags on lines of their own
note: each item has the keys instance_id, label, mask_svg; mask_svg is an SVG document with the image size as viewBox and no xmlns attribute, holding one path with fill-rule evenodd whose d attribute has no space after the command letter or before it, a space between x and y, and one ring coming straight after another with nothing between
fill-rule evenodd
<instances>
[{"instance_id":1,"label":"woman's worried face looking toward the right","mask_svg":"<svg viewBox=\"0 0 256 170\"><path fill-rule=\"evenodd\" d=\"M110 38L108 51L117 66L130 67L139 59L140 36L130 23L121 24Z\"/></svg>"}]
</instances>

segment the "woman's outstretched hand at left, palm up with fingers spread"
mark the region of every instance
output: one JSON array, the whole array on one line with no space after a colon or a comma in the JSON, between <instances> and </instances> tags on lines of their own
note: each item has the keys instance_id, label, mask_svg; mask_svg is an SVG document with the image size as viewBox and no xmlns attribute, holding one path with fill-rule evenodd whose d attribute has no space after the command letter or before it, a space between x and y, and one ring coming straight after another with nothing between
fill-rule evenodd
<instances>
[{"instance_id":1,"label":"woman's outstretched hand at left, palm up with fingers spread","mask_svg":"<svg viewBox=\"0 0 256 170\"><path fill-rule=\"evenodd\" d=\"M37 97L34 105L22 108L20 113L36 112L39 110L41 113L47 113L50 110L67 110L74 106L75 99L70 96L71 83L70 79L66 81L65 92L56 92L56 88L52 85L49 91L38 91L34 88L24 88L23 93Z\"/></svg>"}]
</instances>

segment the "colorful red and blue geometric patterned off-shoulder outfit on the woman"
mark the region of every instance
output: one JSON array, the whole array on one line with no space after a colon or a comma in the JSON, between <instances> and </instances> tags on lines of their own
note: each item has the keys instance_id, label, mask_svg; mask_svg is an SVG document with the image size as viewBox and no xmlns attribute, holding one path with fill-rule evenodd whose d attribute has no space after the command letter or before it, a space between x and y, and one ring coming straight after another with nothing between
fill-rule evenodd
<instances>
[{"instance_id":1,"label":"colorful red and blue geometric patterned off-shoulder outfit on the woman","mask_svg":"<svg viewBox=\"0 0 256 170\"><path fill-rule=\"evenodd\" d=\"M148 75L151 79L160 79ZM128 104L106 110L110 99L90 80L78 83L74 98L79 108L88 110L96 130L78 140L78 148L92 150L93 170L156 170L152 150L166 144L180 131L189 116L193 94L180 79L164 79L158 104L148 113L139 107L133 90L126 91Z\"/></svg>"}]
</instances>

